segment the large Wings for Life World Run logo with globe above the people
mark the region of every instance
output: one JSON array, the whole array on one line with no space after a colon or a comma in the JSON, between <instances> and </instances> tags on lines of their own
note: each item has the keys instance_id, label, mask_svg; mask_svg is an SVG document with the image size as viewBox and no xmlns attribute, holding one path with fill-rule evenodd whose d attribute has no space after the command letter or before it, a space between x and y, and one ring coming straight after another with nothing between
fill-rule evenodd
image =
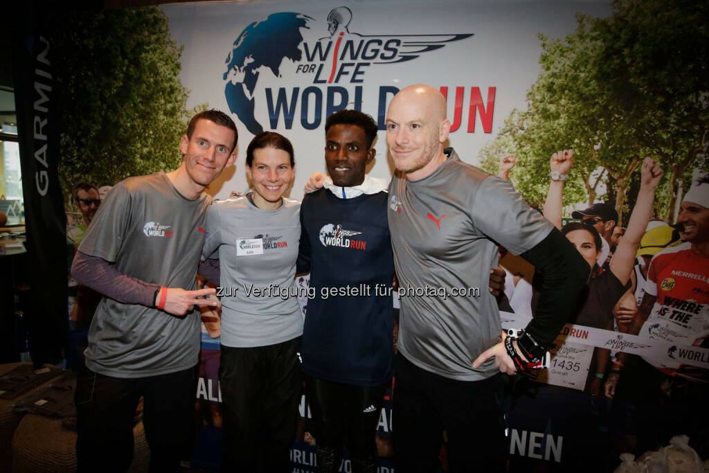
<instances>
[{"instance_id":1,"label":"large Wings for Life World Run logo with globe above the people","mask_svg":"<svg viewBox=\"0 0 709 473\"><path fill-rule=\"evenodd\" d=\"M350 32L351 21L352 11L339 6L328 14L326 28L323 21L316 21L305 13L280 12L254 21L242 30L225 61L224 94L230 111L250 133L262 133L264 125L269 129L277 128L281 116L288 130L296 118L304 129L314 130L322 123L323 113L326 118L350 103L362 111L361 84L369 70L415 60L424 53L441 52L449 43L473 36L473 33L361 35ZM311 30L307 35L312 39L303 38L306 30ZM452 57L451 61L459 62L459 58ZM265 88L267 124L259 123L255 115L256 107L264 106L257 104L260 94L255 91L265 69L284 85L294 82L296 77L308 77L308 82L313 84L302 90L301 87ZM337 84L348 85L349 89ZM441 85L440 89L447 97L448 87ZM479 114L484 133L492 133L495 89L488 87L484 101L480 87L470 87L469 113L463 113L467 87L455 87L451 131L457 130L467 117L468 133L473 133ZM384 130L387 96L396 92L396 87L379 86L378 109L364 110L377 119L380 130ZM298 111L299 117L296 116Z\"/></svg>"}]
</instances>

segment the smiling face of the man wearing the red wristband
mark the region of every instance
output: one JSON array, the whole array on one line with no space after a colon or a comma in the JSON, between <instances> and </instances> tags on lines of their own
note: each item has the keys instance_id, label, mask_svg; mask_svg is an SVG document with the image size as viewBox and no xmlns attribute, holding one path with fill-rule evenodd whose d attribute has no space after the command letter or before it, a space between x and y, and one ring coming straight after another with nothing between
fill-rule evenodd
<instances>
[{"instance_id":1,"label":"smiling face of the man wearing the red wristband","mask_svg":"<svg viewBox=\"0 0 709 473\"><path fill-rule=\"evenodd\" d=\"M235 138L233 130L205 118L197 121L191 138L187 135L182 137L182 165L189 177L186 184L190 190L201 192L219 177L225 167L234 164L236 154L232 149Z\"/></svg>"}]
</instances>

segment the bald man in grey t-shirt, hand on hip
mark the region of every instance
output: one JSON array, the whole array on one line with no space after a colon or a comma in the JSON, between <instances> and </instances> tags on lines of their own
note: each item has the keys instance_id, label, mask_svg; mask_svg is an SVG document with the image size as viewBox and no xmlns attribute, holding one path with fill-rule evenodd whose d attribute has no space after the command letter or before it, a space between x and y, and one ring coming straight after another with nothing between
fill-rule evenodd
<instances>
[{"instance_id":1,"label":"bald man in grey t-shirt, hand on hip","mask_svg":"<svg viewBox=\"0 0 709 473\"><path fill-rule=\"evenodd\" d=\"M500 373L538 366L591 268L508 182L444 148L449 132L437 89L406 87L389 105L386 143L396 173L388 217L403 293L393 396L396 469L435 472L445 429L450 471L503 471ZM545 274L541 312L510 340L503 340L495 298L480 289L498 265L498 245ZM430 296L440 288L445 297Z\"/></svg>"}]
</instances>

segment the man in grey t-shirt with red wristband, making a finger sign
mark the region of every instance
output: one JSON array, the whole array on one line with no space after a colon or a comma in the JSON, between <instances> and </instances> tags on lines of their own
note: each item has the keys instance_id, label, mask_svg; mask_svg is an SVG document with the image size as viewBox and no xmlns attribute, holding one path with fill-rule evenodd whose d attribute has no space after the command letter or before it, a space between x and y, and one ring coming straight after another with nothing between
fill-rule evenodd
<instances>
[{"instance_id":1,"label":"man in grey t-shirt with red wristband, making a finger sign","mask_svg":"<svg viewBox=\"0 0 709 473\"><path fill-rule=\"evenodd\" d=\"M104 294L79 372L77 469L125 471L143 396L151 471L175 471L189 448L199 357L199 311L214 289L196 288L211 197L203 191L233 165L237 131L220 111L198 113L182 137L182 165L130 177L101 203L72 275Z\"/></svg>"}]
</instances>

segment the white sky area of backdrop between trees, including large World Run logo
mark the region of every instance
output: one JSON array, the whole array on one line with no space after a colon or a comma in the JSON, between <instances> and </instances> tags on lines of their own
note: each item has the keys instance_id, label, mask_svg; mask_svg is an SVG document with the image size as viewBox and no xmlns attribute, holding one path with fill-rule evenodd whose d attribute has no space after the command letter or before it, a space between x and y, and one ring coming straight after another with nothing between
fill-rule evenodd
<instances>
[{"instance_id":1,"label":"white sky area of backdrop between trees, including large World Run logo","mask_svg":"<svg viewBox=\"0 0 709 473\"><path fill-rule=\"evenodd\" d=\"M231 114L239 130L235 170L209 189L247 189L243 169L255 133L277 131L296 154L290 196L325 172L325 119L340 108L369 113L384 130L396 91L423 82L447 96L450 145L476 164L540 72L539 33L560 38L574 14L610 14L598 1L238 1L161 6L184 47L188 106ZM372 177L391 177L384 133Z\"/></svg>"}]
</instances>

